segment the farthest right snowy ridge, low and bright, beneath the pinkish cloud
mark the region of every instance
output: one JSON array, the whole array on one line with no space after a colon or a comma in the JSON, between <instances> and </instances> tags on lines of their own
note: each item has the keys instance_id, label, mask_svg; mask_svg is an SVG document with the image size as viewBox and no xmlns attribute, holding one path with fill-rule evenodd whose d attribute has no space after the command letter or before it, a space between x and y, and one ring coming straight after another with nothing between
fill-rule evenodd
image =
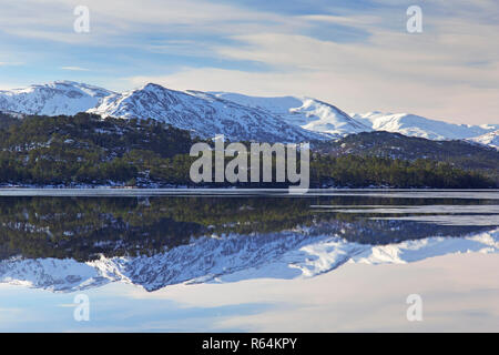
<instances>
[{"instance_id":1,"label":"farthest right snowy ridge, low and bright, beneath the pinkish cloud","mask_svg":"<svg viewBox=\"0 0 499 355\"><path fill-rule=\"evenodd\" d=\"M353 118L375 131L395 132L429 140L464 140L499 129L499 124L454 124L409 113L381 113L375 111L353 114Z\"/></svg>"}]
</instances>

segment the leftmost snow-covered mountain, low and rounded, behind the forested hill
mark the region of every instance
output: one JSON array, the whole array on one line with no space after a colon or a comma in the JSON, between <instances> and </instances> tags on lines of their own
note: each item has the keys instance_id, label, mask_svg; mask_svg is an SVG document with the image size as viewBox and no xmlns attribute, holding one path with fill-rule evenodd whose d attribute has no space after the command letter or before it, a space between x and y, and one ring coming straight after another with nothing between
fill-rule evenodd
<instances>
[{"instance_id":1,"label":"leftmost snow-covered mountain, low and rounded, behind the forested hill","mask_svg":"<svg viewBox=\"0 0 499 355\"><path fill-rule=\"evenodd\" d=\"M73 81L0 90L0 111L26 114L75 114L95 106L114 92Z\"/></svg>"}]
</instances>

